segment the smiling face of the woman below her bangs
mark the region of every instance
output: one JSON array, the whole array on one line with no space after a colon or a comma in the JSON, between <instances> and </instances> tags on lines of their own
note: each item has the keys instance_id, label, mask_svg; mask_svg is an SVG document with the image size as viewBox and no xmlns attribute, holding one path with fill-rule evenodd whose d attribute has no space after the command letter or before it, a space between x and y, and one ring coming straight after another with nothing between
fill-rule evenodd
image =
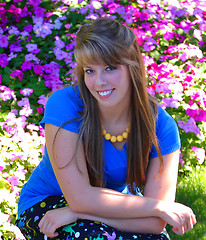
<instances>
[{"instance_id":1,"label":"smiling face of the woman below her bangs","mask_svg":"<svg viewBox=\"0 0 206 240\"><path fill-rule=\"evenodd\" d=\"M125 65L88 64L83 67L84 80L101 107L121 107L130 102L131 80Z\"/></svg>"}]
</instances>

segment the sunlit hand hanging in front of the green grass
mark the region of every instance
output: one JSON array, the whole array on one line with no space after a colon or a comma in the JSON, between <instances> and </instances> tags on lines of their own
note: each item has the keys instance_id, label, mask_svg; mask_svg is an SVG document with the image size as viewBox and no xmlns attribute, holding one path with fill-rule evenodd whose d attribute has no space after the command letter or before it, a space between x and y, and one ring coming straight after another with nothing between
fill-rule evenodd
<instances>
[{"instance_id":1,"label":"sunlit hand hanging in front of the green grass","mask_svg":"<svg viewBox=\"0 0 206 240\"><path fill-rule=\"evenodd\" d=\"M173 226L173 232L181 235L193 229L197 221L191 208L180 203L162 202L162 204L160 217Z\"/></svg>"}]
</instances>

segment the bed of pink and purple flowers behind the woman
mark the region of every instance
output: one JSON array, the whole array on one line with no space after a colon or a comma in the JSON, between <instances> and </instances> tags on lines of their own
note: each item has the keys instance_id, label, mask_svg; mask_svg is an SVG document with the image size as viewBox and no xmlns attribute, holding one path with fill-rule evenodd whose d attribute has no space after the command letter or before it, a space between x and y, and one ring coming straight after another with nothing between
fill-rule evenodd
<instances>
[{"instance_id":1,"label":"bed of pink and purple flowers behind the woman","mask_svg":"<svg viewBox=\"0 0 206 240\"><path fill-rule=\"evenodd\" d=\"M70 84L75 33L116 18L135 32L148 91L176 120L180 172L205 164L206 2L204 0L7 0L0 3L0 236L13 226L19 191L42 157L39 126L47 94Z\"/></svg>"}]
</instances>

